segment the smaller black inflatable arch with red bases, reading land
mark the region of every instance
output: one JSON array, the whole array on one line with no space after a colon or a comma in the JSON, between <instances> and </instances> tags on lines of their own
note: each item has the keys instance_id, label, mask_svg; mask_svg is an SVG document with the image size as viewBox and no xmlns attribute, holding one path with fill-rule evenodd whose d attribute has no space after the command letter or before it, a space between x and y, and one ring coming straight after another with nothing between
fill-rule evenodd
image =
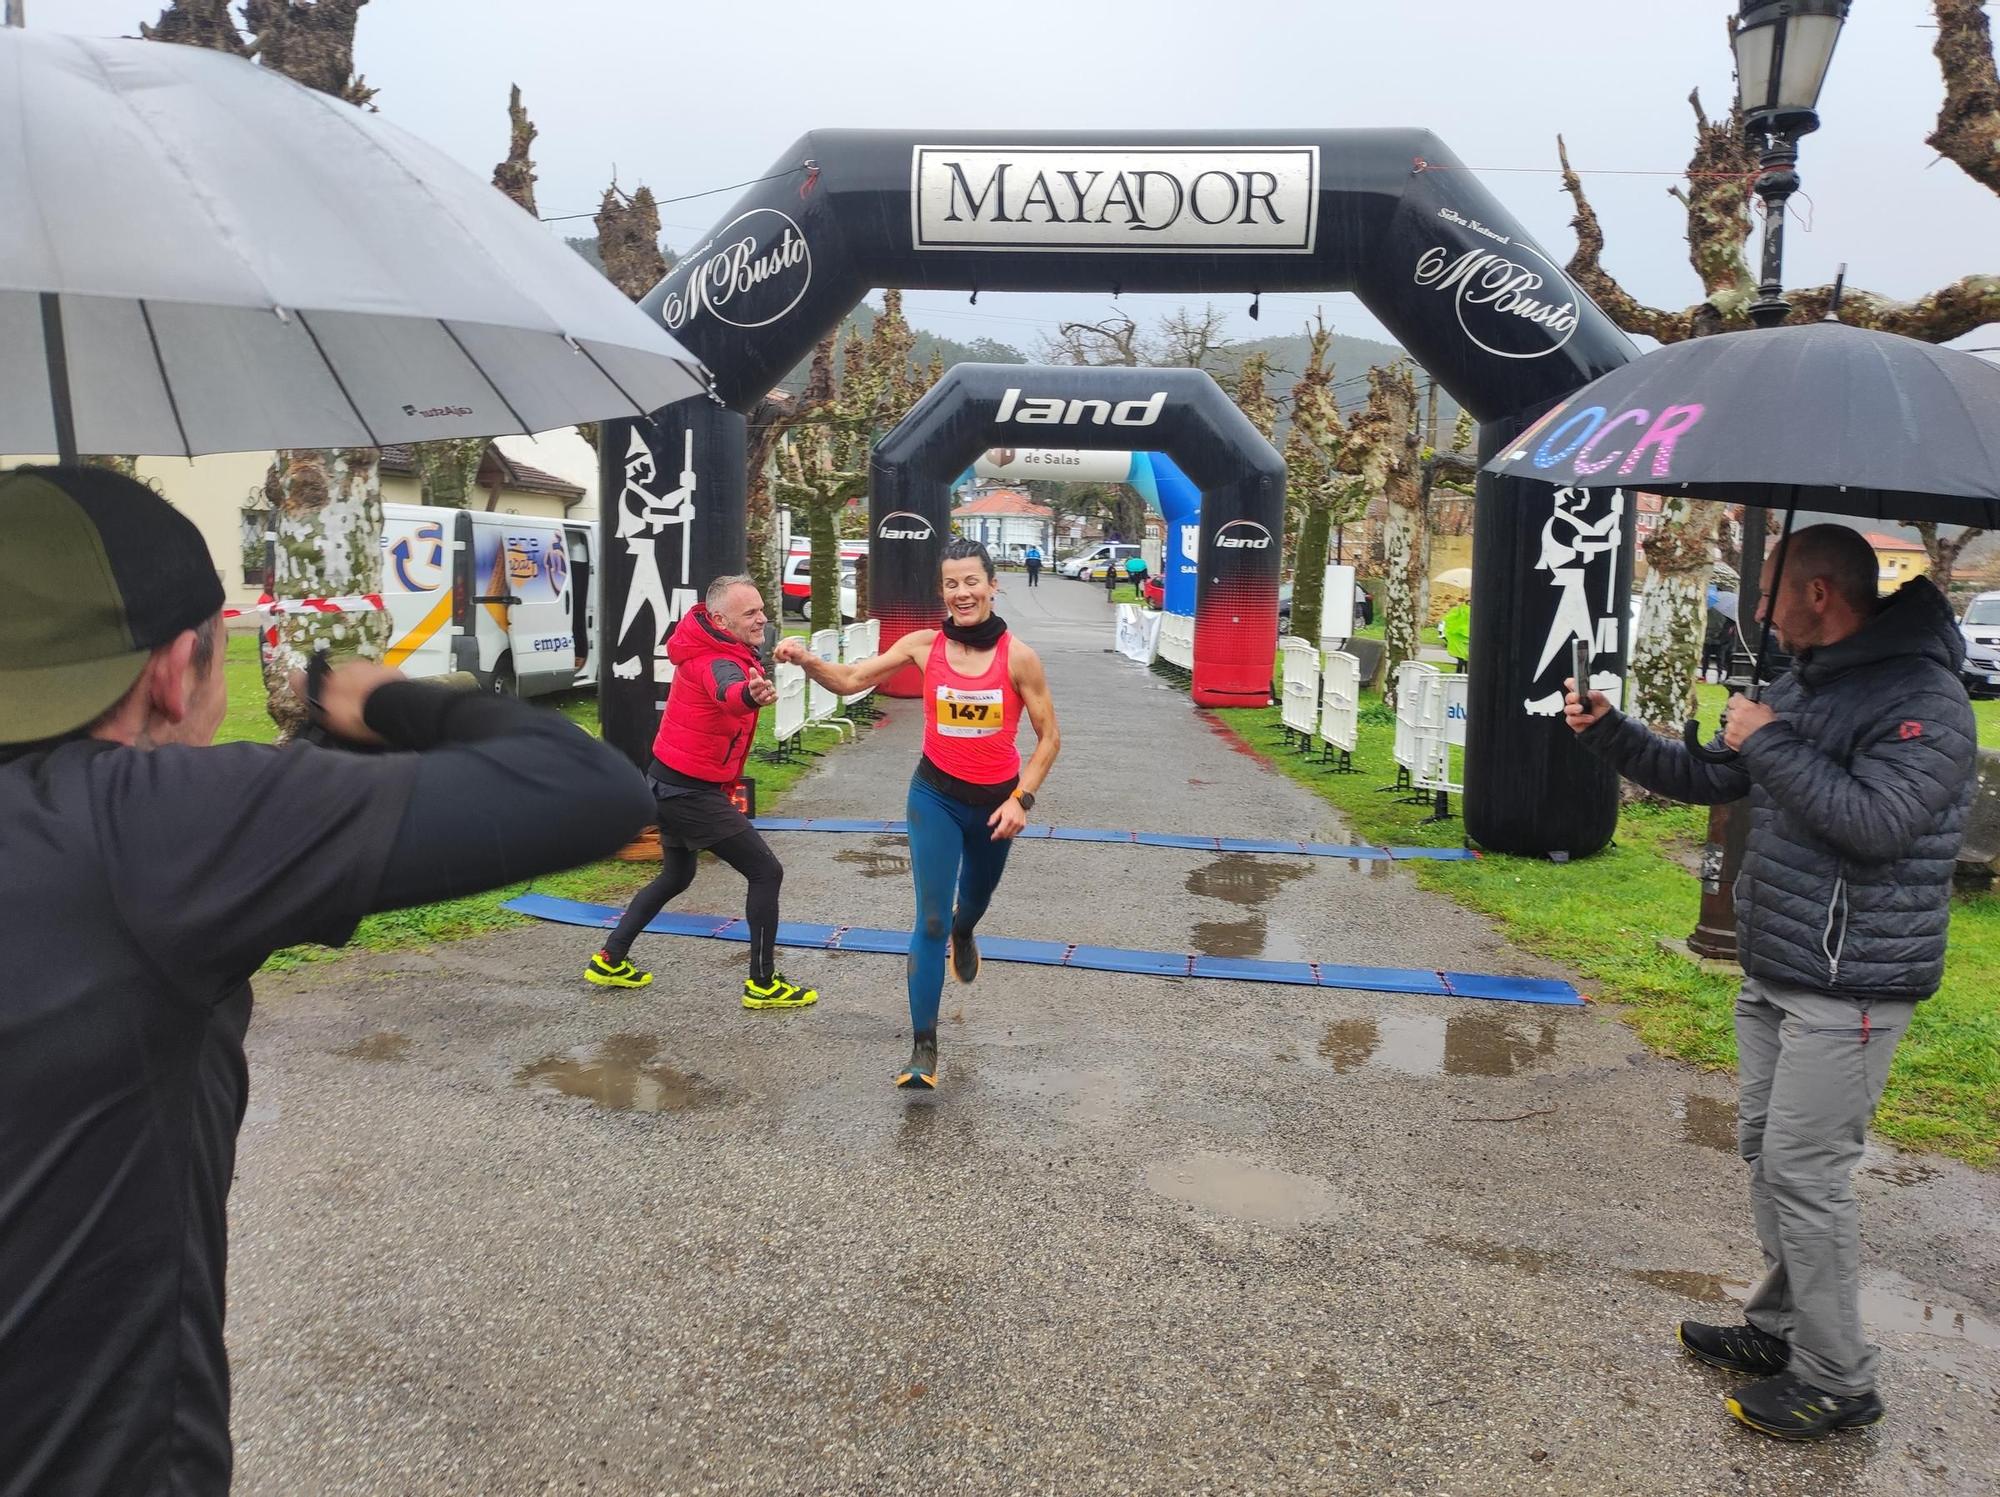
<instances>
[{"instance_id":1,"label":"smaller black inflatable arch with red bases, reading land","mask_svg":"<svg viewBox=\"0 0 2000 1497\"><path fill-rule=\"evenodd\" d=\"M1264 706L1278 638L1284 458L1194 368L960 364L938 380L868 460L868 610L882 620L882 642L938 622L952 480L990 446L1050 432L1064 446L1166 452L1202 490L1194 700ZM912 696L916 680L886 690Z\"/></svg>"}]
</instances>

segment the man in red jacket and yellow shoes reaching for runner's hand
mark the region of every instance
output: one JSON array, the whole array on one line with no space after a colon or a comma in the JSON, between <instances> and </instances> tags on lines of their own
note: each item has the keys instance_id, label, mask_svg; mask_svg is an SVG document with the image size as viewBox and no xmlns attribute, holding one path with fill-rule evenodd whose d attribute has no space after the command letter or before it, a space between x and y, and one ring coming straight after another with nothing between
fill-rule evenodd
<instances>
[{"instance_id":1,"label":"man in red jacket and yellow shoes reaching for runner's hand","mask_svg":"<svg viewBox=\"0 0 2000 1497\"><path fill-rule=\"evenodd\" d=\"M646 987L652 973L630 959L632 943L666 901L694 883L696 855L708 849L750 881L744 915L750 923L746 1009L804 1009L816 989L788 983L776 971L778 887L784 865L736 809L728 787L742 775L756 738L758 708L778 700L764 678L764 598L748 576L718 576L708 602L696 604L666 640L674 686L652 742L648 781L660 821L660 877L632 897L604 951L584 967L598 987Z\"/></svg>"}]
</instances>

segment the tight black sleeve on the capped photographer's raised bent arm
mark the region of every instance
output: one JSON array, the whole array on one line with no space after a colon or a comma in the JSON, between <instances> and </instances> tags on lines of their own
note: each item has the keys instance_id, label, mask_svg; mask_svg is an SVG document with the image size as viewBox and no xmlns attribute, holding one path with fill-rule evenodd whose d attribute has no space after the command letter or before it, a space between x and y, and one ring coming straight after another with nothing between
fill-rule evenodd
<instances>
[{"instance_id":1,"label":"tight black sleeve on the capped photographer's raised bent arm","mask_svg":"<svg viewBox=\"0 0 2000 1497\"><path fill-rule=\"evenodd\" d=\"M366 718L422 751L372 909L574 869L652 821L644 777L560 712L394 682L368 696Z\"/></svg>"}]
</instances>

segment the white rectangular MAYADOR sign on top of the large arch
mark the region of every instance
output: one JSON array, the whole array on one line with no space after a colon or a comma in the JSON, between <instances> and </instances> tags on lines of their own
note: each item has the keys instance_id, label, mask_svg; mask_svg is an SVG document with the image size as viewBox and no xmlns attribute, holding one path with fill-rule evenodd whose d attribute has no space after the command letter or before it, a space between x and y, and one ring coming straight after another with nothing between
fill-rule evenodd
<instances>
[{"instance_id":1,"label":"white rectangular MAYADOR sign on top of the large arch","mask_svg":"<svg viewBox=\"0 0 2000 1497\"><path fill-rule=\"evenodd\" d=\"M1318 146L916 146L918 250L1312 254Z\"/></svg>"}]
</instances>

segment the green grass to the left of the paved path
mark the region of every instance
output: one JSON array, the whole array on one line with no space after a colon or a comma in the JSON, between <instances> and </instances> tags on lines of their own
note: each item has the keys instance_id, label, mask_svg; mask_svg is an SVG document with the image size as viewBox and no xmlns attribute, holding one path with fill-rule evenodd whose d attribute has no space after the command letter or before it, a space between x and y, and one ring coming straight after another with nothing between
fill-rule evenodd
<instances>
[{"instance_id":1,"label":"green grass to the left of the paved path","mask_svg":"<svg viewBox=\"0 0 2000 1497\"><path fill-rule=\"evenodd\" d=\"M230 636L224 668L228 670L230 706L222 718L220 732L216 732L216 742L270 742L276 736L276 728L264 710L264 676L256 658L254 634ZM592 736L598 734L598 698L594 692L564 692L560 696L544 696L540 702L548 710L562 712ZM830 732L816 732L812 734L812 742L818 748L830 748L834 736ZM770 712L764 712L758 720L756 746L766 751L774 746ZM746 771L756 781L758 813L768 815L810 767L810 759L768 763L752 757ZM492 889L484 895L370 915L362 921L348 947L362 951L410 951L440 941L462 941L464 937L486 935L514 925L530 925L526 917L500 909L506 901L530 889L540 895L576 899L590 905L622 905L656 871L658 865L654 863L618 863L616 859L608 859L582 869L570 869L568 873L546 875L532 883ZM290 947L276 953L264 971L284 973L334 957L338 953L326 947Z\"/></svg>"}]
</instances>

